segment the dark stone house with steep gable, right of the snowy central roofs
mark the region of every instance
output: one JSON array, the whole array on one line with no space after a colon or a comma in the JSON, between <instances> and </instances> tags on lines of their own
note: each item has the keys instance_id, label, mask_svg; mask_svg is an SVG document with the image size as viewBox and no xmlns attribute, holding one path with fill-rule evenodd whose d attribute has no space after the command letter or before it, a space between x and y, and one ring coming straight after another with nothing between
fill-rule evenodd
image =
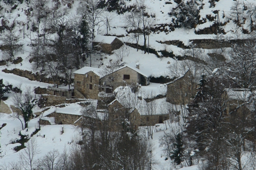
<instances>
[{"instance_id":1,"label":"dark stone house with steep gable, right of the snowy central roofs","mask_svg":"<svg viewBox=\"0 0 256 170\"><path fill-rule=\"evenodd\" d=\"M188 104L196 94L196 82L189 69L183 76L177 77L166 85L166 101L172 104Z\"/></svg>"}]
</instances>

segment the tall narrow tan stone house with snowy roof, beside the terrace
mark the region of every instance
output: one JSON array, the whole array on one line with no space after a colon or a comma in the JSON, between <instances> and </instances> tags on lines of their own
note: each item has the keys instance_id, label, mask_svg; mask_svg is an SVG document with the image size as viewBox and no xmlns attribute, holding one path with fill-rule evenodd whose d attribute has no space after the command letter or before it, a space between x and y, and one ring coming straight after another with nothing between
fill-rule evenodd
<instances>
[{"instance_id":1,"label":"tall narrow tan stone house with snowy roof, beside the terrace","mask_svg":"<svg viewBox=\"0 0 256 170\"><path fill-rule=\"evenodd\" d=\"M83 67L74 72L74 95L77 98L98 99L101 69Z\"/></svg>"}]
</instances>

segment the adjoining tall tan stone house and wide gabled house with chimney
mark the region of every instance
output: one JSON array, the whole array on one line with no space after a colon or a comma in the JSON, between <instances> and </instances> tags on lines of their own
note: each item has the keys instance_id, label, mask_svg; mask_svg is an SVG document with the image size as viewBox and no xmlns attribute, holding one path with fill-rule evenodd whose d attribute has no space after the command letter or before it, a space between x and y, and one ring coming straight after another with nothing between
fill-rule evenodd
<instances>
[{"instance_id":1,"label":"adjoining tall tan stone house and wide gabled house with chimney","mask_svg":"<svg viewBox=\"0 0 256 170\"><path fill-rule=\"evenodd\" d=\"M100 68L83 67L74 72L74 96L98 99L100 92L111 94L114 89L126 84L139 83L147 86L150 76L150 71L140 69L138 63L125 65L108 74Z\"/></svg>"}]
</instances>

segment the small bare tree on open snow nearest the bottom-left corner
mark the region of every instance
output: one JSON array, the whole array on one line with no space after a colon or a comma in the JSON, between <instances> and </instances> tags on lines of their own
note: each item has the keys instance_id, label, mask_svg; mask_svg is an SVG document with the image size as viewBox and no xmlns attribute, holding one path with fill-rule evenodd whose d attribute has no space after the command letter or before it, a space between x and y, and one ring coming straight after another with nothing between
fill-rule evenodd
<instances>
[{"instance_id":1,"label":"small bare tree on open snow nearest the bottom-left corner","mask_svg":"<svg viewBox=\"0 0 256 170\"><path fill-rule=\"evenodd\" d=\"M26 148L20 151L20 162L25 170L33 170L36 165L35 156L40 154L39 146L35 138L25 143Z\"/></svg>"}]
</instances>

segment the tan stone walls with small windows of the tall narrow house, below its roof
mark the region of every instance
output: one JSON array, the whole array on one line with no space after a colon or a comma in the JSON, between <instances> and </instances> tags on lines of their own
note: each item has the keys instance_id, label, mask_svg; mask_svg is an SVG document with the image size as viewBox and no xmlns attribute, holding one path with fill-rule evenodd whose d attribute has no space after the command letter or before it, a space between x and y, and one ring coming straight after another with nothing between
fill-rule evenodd
<instances>
[{"instance_id":1,"label":"tan stone walls with small windows of the tall narrow house, below its roof","mask_svg":"<svg viewBox=\"0 0 256 170\"><path fill-rule=\"evenodd\" d=\"M81 94L82 94L83 96L85 96L85 98L98 99L98 94L100 92L99 83L100 83L100 77L92 71L83 75L75 74L75 77L74 77L75 97L79 98L81 97ZM92 87L92 89L90 89L90 86ZM79 94L78 92L80 92L81 94Z\"/></svg>"}]
</instances>

